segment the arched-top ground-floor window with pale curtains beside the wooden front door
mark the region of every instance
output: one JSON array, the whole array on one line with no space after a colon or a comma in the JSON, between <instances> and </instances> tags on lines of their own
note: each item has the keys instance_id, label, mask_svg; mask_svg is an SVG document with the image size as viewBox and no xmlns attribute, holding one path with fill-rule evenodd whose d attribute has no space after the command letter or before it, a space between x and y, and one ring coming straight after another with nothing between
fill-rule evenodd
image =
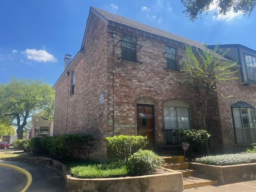
<instances>
[{"instance_id":1,"label":"arched-top ground-floor window with pale curtains beside the wooden front door","mask_svg":"<svg viewBox=\"0 0 256 192\"><path fill-rule=\"evenodd\" d=\"M164 103L165 129L190 129L189 104L181 100L171 100Z\"/></svg>"}]
</instances>

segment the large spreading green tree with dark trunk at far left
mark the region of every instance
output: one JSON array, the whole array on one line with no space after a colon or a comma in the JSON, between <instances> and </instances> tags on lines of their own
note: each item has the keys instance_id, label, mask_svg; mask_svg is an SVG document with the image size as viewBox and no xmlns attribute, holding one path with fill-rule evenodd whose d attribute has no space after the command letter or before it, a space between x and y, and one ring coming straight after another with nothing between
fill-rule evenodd
<instances>
[{"instance_id":1,"label":"large spreading green tree with dark trunk at far left","mask_svg":"<svg viewBox=\"0 0 256 192\"><path fill-rule=\"evenodd\" d=\"M42 114L49 118L49 108L53 108L54 90L42 80L18 81L12 78L7 84L0 84L0 118L8 117L17 128L18 139L23 139L28 118Z\"/></svg>"}]
</instances>

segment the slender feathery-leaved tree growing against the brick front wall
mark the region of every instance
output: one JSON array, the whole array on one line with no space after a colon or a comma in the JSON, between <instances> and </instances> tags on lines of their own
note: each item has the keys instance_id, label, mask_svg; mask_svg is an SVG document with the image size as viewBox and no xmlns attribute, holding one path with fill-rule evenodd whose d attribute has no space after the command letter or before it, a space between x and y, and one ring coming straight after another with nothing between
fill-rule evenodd
<instances>
[{"instance_id":1,"label":"slender feathery-leaved tree growing against the brick front wall","mask_svg":"<svg viewBox=\"0 0 256 192\"><path fill-rule=\"evenodd\" d=\"M181 83L188 84L198 94L197 103L202 113L204 129L206 129L205 118L209 97L217 93L216 83L238 79L234 76L238 70L232 70L236 62L222 60L229 50L218 55L218 45L214 50L209 50L206 44L205 47L204 51L196 48L194 53L192 46L186 46L187 59L183 59L182 68L185 75L180 79Z\"/></svg>"}]
</instances>

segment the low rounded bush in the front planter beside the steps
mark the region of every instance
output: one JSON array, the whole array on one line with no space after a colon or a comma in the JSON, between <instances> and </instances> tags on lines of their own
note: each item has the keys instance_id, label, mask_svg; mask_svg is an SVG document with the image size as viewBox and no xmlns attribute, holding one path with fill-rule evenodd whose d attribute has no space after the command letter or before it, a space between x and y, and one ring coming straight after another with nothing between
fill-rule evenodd
<instances>
[{"instance_id":1,"label":"low rounded bush in the front planter beside the steps","mask_svg":"<svg viewBox=\"0 0 256 192\"><path fill-rule=\"evenodd\" d=\"M132 175L154 173L163 162L153 151L140 149L128 158L127 171Z\"/></svg>"}]
</instances>

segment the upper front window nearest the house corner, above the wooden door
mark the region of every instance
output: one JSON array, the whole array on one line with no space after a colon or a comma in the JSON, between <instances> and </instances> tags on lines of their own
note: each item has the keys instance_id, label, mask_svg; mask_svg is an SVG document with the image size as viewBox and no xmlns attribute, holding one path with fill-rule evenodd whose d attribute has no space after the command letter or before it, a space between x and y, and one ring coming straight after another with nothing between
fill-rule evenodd
<instances>
[{"instance_id":1,"label":"upper front window nearest the house corner, above the wooden door","mask_svg":"<svg viewBox=\"0 0 256 192\"><path fill-rule=\"evenodd\" d=\"M122 58L136 61L136 38L122 34Z\"/></svg>"}]
</instances>

